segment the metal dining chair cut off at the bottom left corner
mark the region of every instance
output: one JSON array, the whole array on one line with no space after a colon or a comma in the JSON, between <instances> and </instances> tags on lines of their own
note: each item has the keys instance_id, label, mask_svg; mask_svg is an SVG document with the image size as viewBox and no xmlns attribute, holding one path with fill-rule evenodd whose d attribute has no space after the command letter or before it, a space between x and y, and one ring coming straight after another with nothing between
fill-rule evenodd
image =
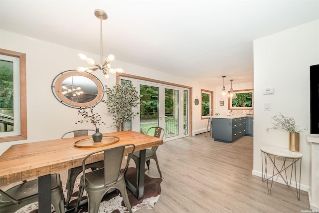
<instances>
[{"instance_id":1,"label":"metal dining chair cut off at the bottom left corner","mask_svg":"<svg viewBox=\"0 0 319 213\"><path fill-rule=\"evenodd\" d=\"M38 179L24 181L5 192L0 190L0 212L14 213L22 207L38 202ZM51 175L51 204L56 213L65 213L60 175Z\"/></svg>"}]
</instances>

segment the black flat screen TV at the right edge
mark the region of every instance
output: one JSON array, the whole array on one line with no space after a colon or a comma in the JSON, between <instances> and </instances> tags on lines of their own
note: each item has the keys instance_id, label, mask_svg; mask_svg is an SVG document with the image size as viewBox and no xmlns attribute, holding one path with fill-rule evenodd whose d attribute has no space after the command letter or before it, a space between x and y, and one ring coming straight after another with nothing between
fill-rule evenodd
<instances>
[{"instance_id":1,"label":"black flat screen TV at the right edge","mask_svg":"<svg viewBox=\"0 0 319 213\"><path fill-rule=\"evenodd\" d=\"M310 66L310 133L319 134L319 64Z\"/></svg>"}]
</instances>

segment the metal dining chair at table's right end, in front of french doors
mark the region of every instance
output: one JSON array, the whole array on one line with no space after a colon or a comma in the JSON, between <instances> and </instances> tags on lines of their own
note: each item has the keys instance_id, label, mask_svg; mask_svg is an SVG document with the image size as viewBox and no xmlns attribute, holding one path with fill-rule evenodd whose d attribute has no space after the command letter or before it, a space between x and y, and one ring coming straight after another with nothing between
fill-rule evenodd
<instances>
[{"instance_id":1,"label":"metal dining chair at table's right end, in front of french doors","mask_svg":"<svg viewBox=\"0 0 319 213\"><path fill-rule=\"evenodd\" d=\"M147 135L151 134L152 131L154 131L154 135L153 136L157 137L157 138L160 138L160 139L162 139L164 137L164 135L165 135L165 130L163 128L160 128L160 127L151 127L150 129L148 129L146 134ZM161 172L160 172L160 166L159 166L159 162L158 162L158 157L156 156L156 151L157 151L158 148L159 148L159 146L155 146L155 147L152 147L151 149L147 149L146 150L145 162L146 162L146 164L148 166L148 169L150 169L150 160L154 159L155 162L156 162L156 165L158 167L158 171L160 173L160 178L162 178ZM139 171L139 169L140 169L139 168L139 164L138 164L139 158L140 158L140 151L134 152L133 156L132 156L132 159L135 162L137 171Z\"/></svg>"}]
</instances>

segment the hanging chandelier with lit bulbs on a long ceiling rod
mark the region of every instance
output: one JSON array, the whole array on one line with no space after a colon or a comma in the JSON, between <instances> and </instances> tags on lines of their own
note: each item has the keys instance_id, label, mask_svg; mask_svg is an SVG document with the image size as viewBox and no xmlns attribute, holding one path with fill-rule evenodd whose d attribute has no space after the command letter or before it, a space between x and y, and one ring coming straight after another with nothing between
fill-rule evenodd
<instances>
[{"instance_id":1,"label":"hanging chandelier with lit bulbs on a long ceiling rod","mask_svg":"<svg viewBox=\"0 0 319 213\"><path fill-rule=\"evenodd\" d=\"M78 54L78 57L82 60L86 60L86 62L90 65L94 65L95 67L82 67L82 66L79 66L76 68L77 71L79 72L93 72L97 69L100 69L103 71L103 74L104 74L104 77L106 79L110 79L110 75L109 73L111 74L115 74L117 72L119 73L123 73L124 70L122 68L112 68L111 67L111 64L109 63L110 61L113 61L115 59L114 55L109 55L107 57L107 59L103 62L103 40L102 40L102 20L105 20L108 18L108 15L106 14L105 11L103 11L102 9L96 9L94 10L94 14L97 18L100 19L100 42L101 42L101 45L100 45L100 56L101 56L101 63L98 64L94 59L92 58L88 58L86 57L84 54L80 53Z\"/></svg>"}]
</instances>

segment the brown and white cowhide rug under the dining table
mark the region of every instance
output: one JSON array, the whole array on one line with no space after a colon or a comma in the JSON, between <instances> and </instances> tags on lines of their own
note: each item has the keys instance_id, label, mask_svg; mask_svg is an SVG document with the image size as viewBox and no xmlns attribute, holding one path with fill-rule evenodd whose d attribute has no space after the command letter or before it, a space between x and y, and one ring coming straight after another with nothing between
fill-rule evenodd
<instances>
[{"instance_id":1,"label":"brown and white cowhide rug under the dining table","mask_svg":"<svg viewBox=\"0 0 319 213\"><path fill-rule=\"evenodd\" d=\"M136 168L128 168L126 178L131 183L136 183ZM79 189L79 179L75 183L74 193L72 195L70 206L76 203ZM151 178L147 174L145 175L144 181L144 198L138 201L134 195L127 190L130 204L132 206L132 212L135 212L139 209L153 209L154 205L160 198L160 183L162 182L161 178ZM65 185L63 185L65 189ZM64 190L64 197L66 197L67 191ZM85 191L83 193L82 200L86 199ZM53 213L55 211L52 211ZM128 213L123 199L119 193L116 191L105 195L101 201L99 213ZM16 213L38 213L38 203L30 204L18 210ZM79 213L88 213L87 204L79 208Z\"/></svg>"}]
</instances>

